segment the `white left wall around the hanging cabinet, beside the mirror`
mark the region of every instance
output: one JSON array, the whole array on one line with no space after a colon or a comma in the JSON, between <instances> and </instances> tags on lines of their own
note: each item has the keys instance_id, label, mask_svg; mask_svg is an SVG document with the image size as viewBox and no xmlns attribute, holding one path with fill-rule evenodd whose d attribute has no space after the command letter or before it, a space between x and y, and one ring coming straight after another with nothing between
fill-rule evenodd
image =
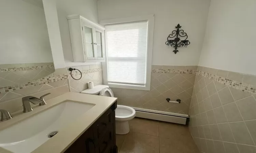
<instances>
[{"instance_id":1,"label":"white left wall around the hanging cabinet, beside the mirror","mask_svg":"<svg viewBox=\"0 0 256 153\"><path fill-rule=\"evenodd\" d=\"M69 26L66 16L80 14L93 22L99 23L96 0L57 0L56 6L66 67L95 64L73 63Z\"/></svg>"}]
</instances>

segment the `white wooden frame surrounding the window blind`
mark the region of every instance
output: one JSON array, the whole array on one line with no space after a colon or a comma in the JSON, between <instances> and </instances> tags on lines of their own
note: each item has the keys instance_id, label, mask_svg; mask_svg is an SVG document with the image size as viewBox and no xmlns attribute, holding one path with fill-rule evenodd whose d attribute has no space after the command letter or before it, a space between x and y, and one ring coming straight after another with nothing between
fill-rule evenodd
<instances>
[{"instance_id":1,"label":"white wooden frame surrounding the window blind","mask_svg":"<svg viewBox=\"0 0 256 153\"><path fill-rule=\"evenodd\" d=\"M108 85L109 87L113 87L113 88L137 89L137 90L148 90L148 91L150 90L153 37L154 37L154 18L155 18L155 15L144 15L144 16L137 16L137 17L117 18L117 19L109 19L109 20L101 20L100 21L100 24L102 26L105 26L108 24L117 24L117 23L148 21L145 86L108 83L108 55L107 55L107 47L106 47L106 37L104 39L105 62L102 62L103 84ZM104 30L104 34L106 36L106 30Z\"/></svg>"}]
</instances>

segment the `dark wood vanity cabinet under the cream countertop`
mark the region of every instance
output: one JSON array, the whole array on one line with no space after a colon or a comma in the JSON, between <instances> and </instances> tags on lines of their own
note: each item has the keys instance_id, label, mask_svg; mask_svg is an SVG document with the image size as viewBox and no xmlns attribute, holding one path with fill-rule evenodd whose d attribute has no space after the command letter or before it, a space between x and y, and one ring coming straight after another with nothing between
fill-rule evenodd
<instances>
[{"instance_id":1,"label":"dark wood vanity cabinet under the cream countertop","mask_svg":"<svg viewBox=\"0 0 256 153\"><path fill-rule=\"evenodd\" d=\"M117 153L115 139L115 102L90 126L65 153Z\"/></svg>"}]
</instances>

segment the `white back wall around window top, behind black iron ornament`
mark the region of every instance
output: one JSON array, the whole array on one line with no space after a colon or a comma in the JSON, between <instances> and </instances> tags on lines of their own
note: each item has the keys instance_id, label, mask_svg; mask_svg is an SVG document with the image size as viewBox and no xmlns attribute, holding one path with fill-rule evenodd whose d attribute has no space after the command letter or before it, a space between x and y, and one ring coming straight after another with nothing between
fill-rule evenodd
<instances>
[{"instance_id":1,"label":"white back wall around window top, behind black iron ornament","mask_svg":"<svg viewBox=\"0 0 256 153\"><path fill-rule=\"evenodd\" d=\"M99 20L155 14L153 65L198 65L210 0L99 0ZM177 23L191 44L173 48L165 42Z\"/></svg>"}]
</instances>

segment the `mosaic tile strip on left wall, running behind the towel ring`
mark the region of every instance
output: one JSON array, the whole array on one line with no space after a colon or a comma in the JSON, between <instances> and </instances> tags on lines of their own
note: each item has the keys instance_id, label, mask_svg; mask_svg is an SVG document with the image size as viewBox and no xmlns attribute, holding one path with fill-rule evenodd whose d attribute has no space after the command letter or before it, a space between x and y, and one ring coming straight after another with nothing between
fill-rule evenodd
<instances>
[{"instance_id":1,"label":"mosaic tile strip on left wall, running behind the towel ring","mask_svg":"<svg viewBox=\"0 0 256 153\"><path fill-rule=\"evenodd\" d=\"M87 74L87 73L93 73L93 72L98 72L98 71L102 71L102 68L88 69L88 70L83 70L81 72L82 72L82 74ZM75 75L80 74L78 71L74 72L74 73L75 73ZM46 84L46 83L51 83L51 82L68 79L69 75L70 75L70 73L54 75L54 76L50 76L50 77L44 77L42 79L38 79L35 81L31 81L26 84L19 84L19 85L8 86L8 87L0 87L0 94L9 92L9 91L20 90L20 89L31 87L31 86L39 86L39 85Z\"/></svg>"}]
</instances>

